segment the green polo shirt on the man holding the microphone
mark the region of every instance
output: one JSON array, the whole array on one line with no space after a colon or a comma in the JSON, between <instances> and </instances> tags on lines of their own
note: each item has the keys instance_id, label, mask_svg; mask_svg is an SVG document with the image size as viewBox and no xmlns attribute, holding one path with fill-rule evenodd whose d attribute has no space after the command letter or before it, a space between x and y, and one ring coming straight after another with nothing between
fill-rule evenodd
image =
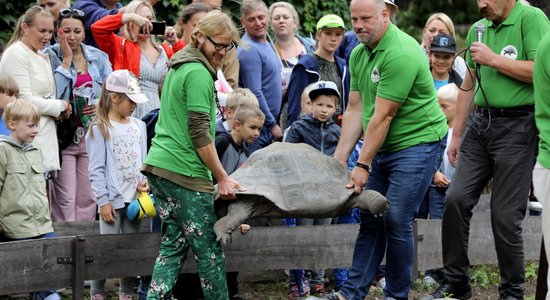
<instances>
[{"instance_id":1,"label":"green polo shirt on the man holding the microphone","mask_svg":"<svg viewBox=\"0 0 550 300\"><path fill-rule=\"evenodd\" d=\"M517 1L508 18L500 25L487 19L479 22L486 27L483 43L495 53L515 60L535 60L537 46L542 36L550 30L548 18L540 9L525 6L521 1ZM468 47L477 40L477 24L472 25L466 37ZM470 68L475 68L470 52L467 52L466 62ZM497 108L533 105L532 84L508 77L495 68L481 66L480 70L478 85L481 82L485 93L476 89L476 105Z\"/></svg>"}]
</instances>

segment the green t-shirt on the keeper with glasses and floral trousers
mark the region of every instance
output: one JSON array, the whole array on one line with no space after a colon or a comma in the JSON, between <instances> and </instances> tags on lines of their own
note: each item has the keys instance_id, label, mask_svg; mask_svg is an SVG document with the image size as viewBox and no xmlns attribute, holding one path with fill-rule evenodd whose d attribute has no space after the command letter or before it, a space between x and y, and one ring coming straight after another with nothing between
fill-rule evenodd
<instances>
[{"instance_id":1,"label":"green t-shirt on the keeper with glasses and floral trousers","mask_svg":"<svg viewBox=\"0 0 550 300\"><path fill-rule=\"evenodd\" d=\"M188 62L171 69L164 81L164 92L155 138L144 164L190 178L212 180L212 174L199 157L189 134L189 112L208 113L214 140L216 102L214 80L200 62Z\"/></svg>"}]
</instances>

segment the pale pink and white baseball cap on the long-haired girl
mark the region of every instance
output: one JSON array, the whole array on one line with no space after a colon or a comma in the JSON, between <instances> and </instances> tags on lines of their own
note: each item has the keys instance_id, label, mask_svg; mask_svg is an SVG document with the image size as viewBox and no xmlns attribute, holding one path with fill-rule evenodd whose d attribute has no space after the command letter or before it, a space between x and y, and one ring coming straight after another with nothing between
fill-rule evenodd
<instances>
[{"instance_id":1,"label":"pale pink and white baseball cap on the long-haired girl","mask_svg":"<svg viewBox=\"0 0 550 300\"><path fill-rule=\"evenodd\" d=\"M136 75L128 70L116 70L109 74L105 88L111 92L124 93L137 104L149 101L141 92Z\"/></svg>"}]
</instances>

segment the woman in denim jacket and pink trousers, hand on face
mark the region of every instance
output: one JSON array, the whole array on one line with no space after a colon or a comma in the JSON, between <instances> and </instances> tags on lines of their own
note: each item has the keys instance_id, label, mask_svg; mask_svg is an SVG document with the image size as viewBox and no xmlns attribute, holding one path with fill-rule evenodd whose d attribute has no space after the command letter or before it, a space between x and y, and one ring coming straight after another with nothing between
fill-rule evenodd
<instances>
[{"instance_id":1,"label":"woman in denim jacket and pink trousers, hand on face","mask_svg":"<svg viewBox=\"0 0 550 300\"><path fill-rule=\"evenodd\" d=\"M105 52L83 43L83 11L65 8L58 16L58 42L44 52L50 57L57 97L69 101L73 113L57 124L61 170L53 179L52 220L93 221L97 207L88 178L84 134L95 115L95 105L88 101L93 99L75 101L74 90L101 86L112 72L111 63Z\"/></svg>"}]
</instances>

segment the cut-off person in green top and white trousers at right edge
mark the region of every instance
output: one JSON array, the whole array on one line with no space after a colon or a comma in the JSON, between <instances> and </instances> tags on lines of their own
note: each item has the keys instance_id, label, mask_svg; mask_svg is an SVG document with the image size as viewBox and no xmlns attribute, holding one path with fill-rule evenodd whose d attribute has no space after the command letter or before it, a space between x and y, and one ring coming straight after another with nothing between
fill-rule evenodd
<instances>
[{"instance_id":1,"label":"cut-off person in green top and white trousers at right edge","mask_svg":"<svg viewBox=\"0 0 550 300\"><path fill-rule=\"evenodd\" d=\"M550 257L550 32L537 49L533 71L535 121L539 129L539 154L533 170L533 191L545 209L542 211L542 235L546 257ZM550 277L547 276L547 279ZM550 286L550 284L549 284ZM546 298L550 293L546 294Z\"/></svg>"}]
</instances>

